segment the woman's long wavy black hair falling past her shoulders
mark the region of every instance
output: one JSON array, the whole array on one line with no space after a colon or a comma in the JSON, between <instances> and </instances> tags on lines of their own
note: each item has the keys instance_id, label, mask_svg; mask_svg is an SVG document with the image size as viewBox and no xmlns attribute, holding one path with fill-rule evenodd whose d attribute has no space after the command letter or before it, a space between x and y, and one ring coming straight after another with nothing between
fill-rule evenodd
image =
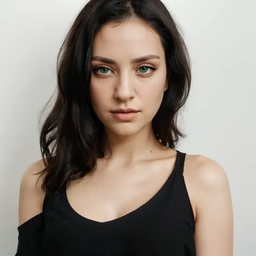
<instances>
[{"instance_id":1,"label":"woman's long wavy black hair falling past her shoulders","mask_svg":"<svg viewBox=\"0 0 256 256\"><path fill-rule=\"evenodd\" d=\"M57 61L57 99L43 123L40 146L45 169L42 189L57 193L69 181L85 176L104 157L103 124L90 102L93 38L109 22L139 18L160 36L165 50L168 90L153 119L153 132L175 148L178 111L191 85L191 65L177 24L160 0L91 0L73 23Z\"/></svg>"}]
</instances>

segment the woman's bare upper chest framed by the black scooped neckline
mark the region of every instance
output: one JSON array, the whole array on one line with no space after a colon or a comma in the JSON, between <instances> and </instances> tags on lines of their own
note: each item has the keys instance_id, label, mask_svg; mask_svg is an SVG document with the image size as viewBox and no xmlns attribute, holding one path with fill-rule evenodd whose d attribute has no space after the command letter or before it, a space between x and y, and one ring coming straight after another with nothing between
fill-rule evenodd
<instances>
[{"instance_id":1,"label":"woman's bare upper chest framed by the black scooped neckline","mask_svg":"<svg viewBox=\"0 0 256 256\"><path fill-rule=\"evenodd\" d=\"M67 189L69 204L85 218L104 222L120 218L153 198L170 177L175 159L99 169ZM102 169L100 169L102 167Z\"/></svg>"}]
</instances>

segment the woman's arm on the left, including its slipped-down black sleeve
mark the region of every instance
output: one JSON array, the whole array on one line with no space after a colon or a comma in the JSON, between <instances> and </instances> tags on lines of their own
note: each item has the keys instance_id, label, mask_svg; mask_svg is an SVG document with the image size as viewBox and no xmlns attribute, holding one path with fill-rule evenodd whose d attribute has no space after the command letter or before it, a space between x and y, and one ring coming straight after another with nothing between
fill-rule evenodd
<instances>
[{"instance_id":1,"label":"woman's arm on the left, including its slipped-down black sleeve","mask_svg":"<svg viewBox=\"0 0 256 256\"><path fill-rule=\"evenodd\" d=\"M21 180L16 256L40 254L44 233L42 210L45 192L41 188L43 178L39 178L40 174L37 173L43 169L43 161L38 160L26 169Z\"/></svg>"}]
</instances>

